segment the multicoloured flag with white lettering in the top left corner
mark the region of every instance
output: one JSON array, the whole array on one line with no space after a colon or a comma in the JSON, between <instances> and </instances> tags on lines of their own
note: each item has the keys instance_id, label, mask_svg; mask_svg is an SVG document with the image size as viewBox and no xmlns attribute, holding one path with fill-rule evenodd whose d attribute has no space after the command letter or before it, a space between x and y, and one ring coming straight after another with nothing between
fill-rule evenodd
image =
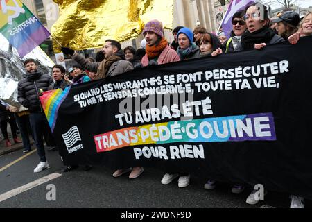
<instances>
[{"instance_id":1,"label":"multicoloured flag with white lettering in the top left corner","mask_svg":"<svg viewBox=\"0 0 312 222\"><path fill-rule=\"evenodd\" d=\"M20 0L0 1L0 33L23 58L51 34Z\"/></svg>"}]
</instances>

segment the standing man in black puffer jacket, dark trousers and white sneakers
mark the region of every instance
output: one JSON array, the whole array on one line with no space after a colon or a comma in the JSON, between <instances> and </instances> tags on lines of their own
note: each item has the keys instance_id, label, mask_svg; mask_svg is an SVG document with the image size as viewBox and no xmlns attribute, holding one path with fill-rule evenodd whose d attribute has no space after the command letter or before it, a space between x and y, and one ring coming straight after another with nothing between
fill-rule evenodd
<instances>
[{"instance_id":1,"label":"standing man in black puffer jacket, dark trousers and white sneakers","mask_svg":"<svg viewBox=\"0 0 312 222\"><path fill-rule=\"evenodd\" d=\"M33 130L37 153L40 157L40 163L33 172L39 173L49 167L44 151L43 136L46 130L51 134L49 123L39 101L39 95L41 92L47 91L49 85L53 83L53 79L48 74L42 74L33 59L25 60L24 65L26 67L26 76L19 80L17 99L30 112L31 129Z\"/></svg>"}]
</instances>

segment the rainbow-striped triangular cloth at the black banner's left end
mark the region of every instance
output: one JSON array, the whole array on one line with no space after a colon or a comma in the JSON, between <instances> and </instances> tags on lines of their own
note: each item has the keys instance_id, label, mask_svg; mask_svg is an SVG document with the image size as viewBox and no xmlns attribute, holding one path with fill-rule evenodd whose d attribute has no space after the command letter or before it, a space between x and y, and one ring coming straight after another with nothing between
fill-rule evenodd
<instances>
[{"instance_id":1,"label":"rainbow-striped triangular cloth at the black banner's left end","mask_svg":"<svg viewBox=\"0 0 312 222\"><path fill-rule=\"evenodd\" d=\"M64 91L62 89L46 91L40 96L40 102L52 132L55 127L56 119L58 119L58 109L64 99L66 99L70 89L71 87L69 86L66 87Z\"/></svg>"}]
</instances>

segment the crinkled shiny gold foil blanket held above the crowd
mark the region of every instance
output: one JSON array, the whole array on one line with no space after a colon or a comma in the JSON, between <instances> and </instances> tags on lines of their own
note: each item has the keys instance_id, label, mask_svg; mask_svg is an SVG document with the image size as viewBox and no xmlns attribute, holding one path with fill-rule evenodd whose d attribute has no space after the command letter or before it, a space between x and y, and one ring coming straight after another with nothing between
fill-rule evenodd
<instances>
[{"instance_id":1,"label":"crinkled shiny gold foil blanket held above the crowd","mask_svg":"<svg viewBox=\"0 0 312 222\"><path fill-rule=\"evenodd\" d=\"M60 6L60 17L51 28L55 52L60 51L57 42L78 50L102 47L107 39L130 40L152 19L172 29L173 0L53 1Z\"/></svg>"}]
</instances>

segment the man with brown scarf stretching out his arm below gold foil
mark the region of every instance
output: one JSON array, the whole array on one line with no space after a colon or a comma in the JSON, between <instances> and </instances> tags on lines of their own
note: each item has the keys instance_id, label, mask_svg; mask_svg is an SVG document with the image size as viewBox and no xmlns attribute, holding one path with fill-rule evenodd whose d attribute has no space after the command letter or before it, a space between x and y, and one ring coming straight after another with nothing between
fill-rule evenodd
<instances>
[{"instance_id":1,"label":"man with brown scarf stretching out his arm below gold foil","mask_svg":"<svg viewBox=\"0 0 312 222\"><path fill-rule=\"evenodd\" d=\"M131 62L125 60L125 53L121 49L121 44L116 40L105 41L103 45L104 60L102 62L90 62L73 49L66 47L62 47L62 52L70 55L83 69L96 73L96 79L116 76L133 69Z\"/></svg>"}]
</instances>

